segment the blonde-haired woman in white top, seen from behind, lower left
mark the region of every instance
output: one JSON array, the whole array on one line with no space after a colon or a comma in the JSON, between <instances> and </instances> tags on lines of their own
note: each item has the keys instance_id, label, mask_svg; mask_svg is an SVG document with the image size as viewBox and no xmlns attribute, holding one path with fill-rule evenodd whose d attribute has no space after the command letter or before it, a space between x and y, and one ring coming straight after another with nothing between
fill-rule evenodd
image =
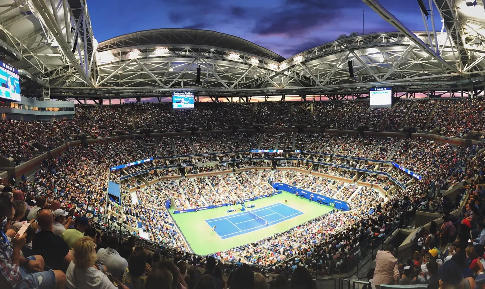
<instances>
[{"instance_id":1,"label":"blonde-haired woman in white top, seen from behind, lower left","mask_svg":"<svg viewBox=\"0 0 485 289\"><path fill-rule=\"evenodd\" d=\"M106 268L96 265L96 245L93 239L85 236L77 240L72 247L72 262L65 273L68 289L128 289ZM114 284L118 286L116 287Z\"/></svg>"}]
</instances>

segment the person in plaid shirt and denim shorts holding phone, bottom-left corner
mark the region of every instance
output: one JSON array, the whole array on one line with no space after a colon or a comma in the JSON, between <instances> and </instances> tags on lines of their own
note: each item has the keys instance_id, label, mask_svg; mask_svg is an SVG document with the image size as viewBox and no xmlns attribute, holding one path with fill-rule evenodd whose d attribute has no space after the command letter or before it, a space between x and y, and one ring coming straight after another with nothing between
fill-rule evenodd
<instances>
[{"instance_id":1,"label":"person in plaid shirt and denim shorts holding phone, bottom-left corner","mask_svg":"<svg viewBox=\"0 0 485 289\"><path fill-rule=\"evenodd\" d=\"M2 234L14 221L14 205L7 198L0 198L0 225ZM0 244L0 284L15 289L63 289L65 274L59 270L44 271L42 256L20 256L25 236L16 235L13 239L1 239ZM3 287L2 287L3 288Z\"/></svg>"}]
</instances>

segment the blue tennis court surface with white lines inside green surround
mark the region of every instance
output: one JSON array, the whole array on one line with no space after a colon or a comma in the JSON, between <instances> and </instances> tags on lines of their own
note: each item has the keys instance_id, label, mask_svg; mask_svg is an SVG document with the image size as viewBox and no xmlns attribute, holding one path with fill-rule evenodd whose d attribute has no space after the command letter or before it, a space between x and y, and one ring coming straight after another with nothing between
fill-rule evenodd
<instances>
[{"instance_id":1,"label":"blue tennis court surface with white lines inside green surround","mask_svg":"<svg viewBox=\"0 0 485 289\"><path fill-rule=\"evenodd\" d=\"M211 228L217 226L216 233L222 239L227 239L278 224L301 214L303 212L297 209L277 203L226 217L209 219L206 220L206 223ZM266 222L268 222L268 225L266 225Z\"/></svg>"}]
</instances>

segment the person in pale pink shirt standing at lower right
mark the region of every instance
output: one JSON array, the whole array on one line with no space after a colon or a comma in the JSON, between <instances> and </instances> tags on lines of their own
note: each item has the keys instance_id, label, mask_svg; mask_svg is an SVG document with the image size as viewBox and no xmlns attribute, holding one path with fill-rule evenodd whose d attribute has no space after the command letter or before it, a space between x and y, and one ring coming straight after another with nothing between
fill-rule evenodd
<instances>
[{"instance_id":1,"label":"person in pale pink shirt standing at lower right","mask_svg":"<svg viewBox=\"0 0 485 289\"><path fill-rule=\"evenodd\" d=\"M397 258L394 257L394 248L390 245L385 250L377 251L375 256L375 271L373 284L380 289L381 284L394 285L399 277Z\"/></svg>"}]
</instances>

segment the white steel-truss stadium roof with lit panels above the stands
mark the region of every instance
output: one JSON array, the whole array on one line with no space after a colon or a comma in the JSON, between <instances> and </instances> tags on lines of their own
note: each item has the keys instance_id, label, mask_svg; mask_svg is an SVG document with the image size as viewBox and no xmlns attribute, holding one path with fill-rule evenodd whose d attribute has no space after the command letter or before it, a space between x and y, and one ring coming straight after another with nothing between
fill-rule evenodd
<instances>
[{"instance_id":1,"label":"white steel-truss stadium roof with lit panels above the stands","mask_svg":"<svg viewBox=\"0 0 485 289\"><path fill-rule=\"evenodd\" d=\"M362 93L376 85L408 91L483 86L483 0L471 7L466 0L434 0L443 26L426 25L422 32L409 31L377 0L363 0L397 32L341 35L288 59L206 30L141 31L97 44L83 2L0 0L0 50L21 69L23 93L91 98L183 89L245 96ZM430 14L433 22L438 13ZM50 91L38 89L46 84Z\"/></svg>"}]
</instances>

